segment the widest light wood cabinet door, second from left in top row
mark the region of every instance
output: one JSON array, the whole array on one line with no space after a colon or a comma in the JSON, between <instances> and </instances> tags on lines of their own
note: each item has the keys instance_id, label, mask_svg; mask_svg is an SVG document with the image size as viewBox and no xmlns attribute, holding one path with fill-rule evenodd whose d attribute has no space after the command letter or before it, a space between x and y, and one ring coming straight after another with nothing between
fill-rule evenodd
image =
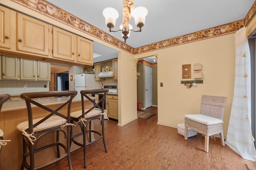
<instances>
[{"instance_id":1,"label":"widest light wood cabinet door, second from left in top row","mask_svg":"<svg viewBox=\"0 0 256 170\"><path fill-rule=\"evenodd\" d=\"M49 57L50 25L17 13L17 51Z\"/></svg>"}]
</instances>

